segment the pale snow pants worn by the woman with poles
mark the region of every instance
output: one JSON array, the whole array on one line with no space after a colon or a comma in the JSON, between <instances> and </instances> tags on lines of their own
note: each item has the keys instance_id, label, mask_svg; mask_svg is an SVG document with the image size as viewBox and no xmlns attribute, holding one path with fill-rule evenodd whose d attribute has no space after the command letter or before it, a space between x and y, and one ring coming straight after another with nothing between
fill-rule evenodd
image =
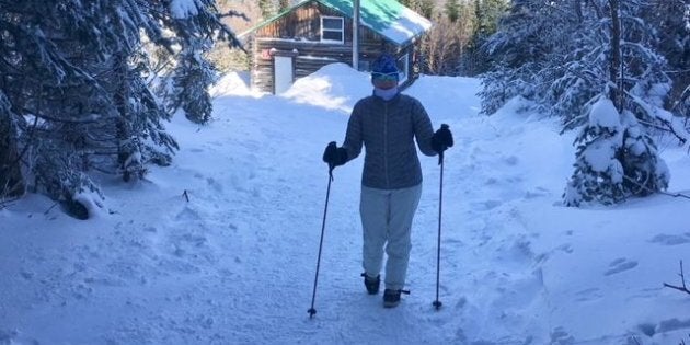
<instances>
[{"instance_id":1,"label":"pale snow pants worn by the woman with poles","mask_svg":"<svg viewBox=\"0 0 690 345\"><path fill-rule=\"evenodd\" d=\"M412 219L421 196L422 184L390 191L361 186L363 266L368 276L378 276L386 246L388 260L383 281L387 289L398 290L405 285L412 249Z\"/></svg>"}]
</instances>

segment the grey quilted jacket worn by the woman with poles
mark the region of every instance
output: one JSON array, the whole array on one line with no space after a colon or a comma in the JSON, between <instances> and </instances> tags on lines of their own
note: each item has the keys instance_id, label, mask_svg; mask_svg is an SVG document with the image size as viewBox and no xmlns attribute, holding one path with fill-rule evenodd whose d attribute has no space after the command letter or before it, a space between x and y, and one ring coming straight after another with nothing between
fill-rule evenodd
<instances>
[{"instance_id":1,"label":"grey quilted jacket worn by the woman with poles","mask_svg":"<svg viewBox=\"0 0 690 345\"><path fill-rule=\"evenodd\" d=\"M422 153L435 156L433 135L429 116L416 99L399 93L384 101L371 95L355 104L343 147L347 160L352 160L359 156L364 143L363 185L399 189L422 183L414 139Z\"/></svg>"}]
</instances>

